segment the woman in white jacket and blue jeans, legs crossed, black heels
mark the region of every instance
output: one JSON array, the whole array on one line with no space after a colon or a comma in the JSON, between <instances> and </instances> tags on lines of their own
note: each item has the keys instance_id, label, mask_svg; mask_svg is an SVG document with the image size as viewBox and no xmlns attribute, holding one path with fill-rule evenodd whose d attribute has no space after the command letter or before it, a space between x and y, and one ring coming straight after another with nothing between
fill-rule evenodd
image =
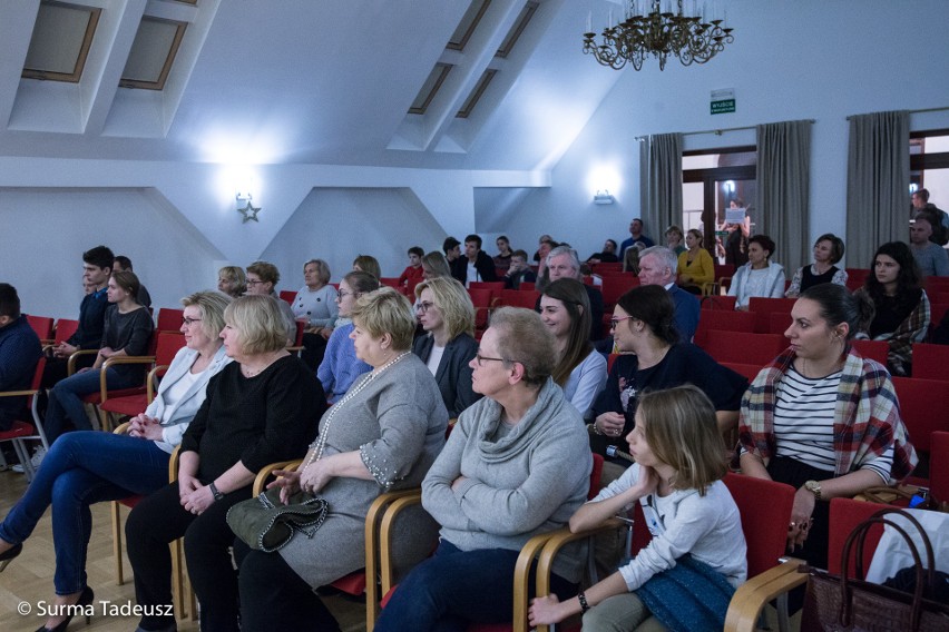
<instances>
[{"instance_id":1,"label":"woman in white jacket and blue jeans, legs crossed, black heels","mask_svg":"<svg viewBox=\"0 0 949 632\"><path fill-rule=\"evenodd\" d=\"M207 382L231 362L218 338L228 302L216 292L183 298L186 346L168 367L155 401L133 419L128 435L88 431L61 436L0 524L0 560L12 560L46 508L53 505L53 604L92 603L84 567L92 526L89 505L150 494L168 484L172 451L204 402ZM65 614L50 616L45 629L61 630L66 624Z\"/></svg>"}]
</instances>

